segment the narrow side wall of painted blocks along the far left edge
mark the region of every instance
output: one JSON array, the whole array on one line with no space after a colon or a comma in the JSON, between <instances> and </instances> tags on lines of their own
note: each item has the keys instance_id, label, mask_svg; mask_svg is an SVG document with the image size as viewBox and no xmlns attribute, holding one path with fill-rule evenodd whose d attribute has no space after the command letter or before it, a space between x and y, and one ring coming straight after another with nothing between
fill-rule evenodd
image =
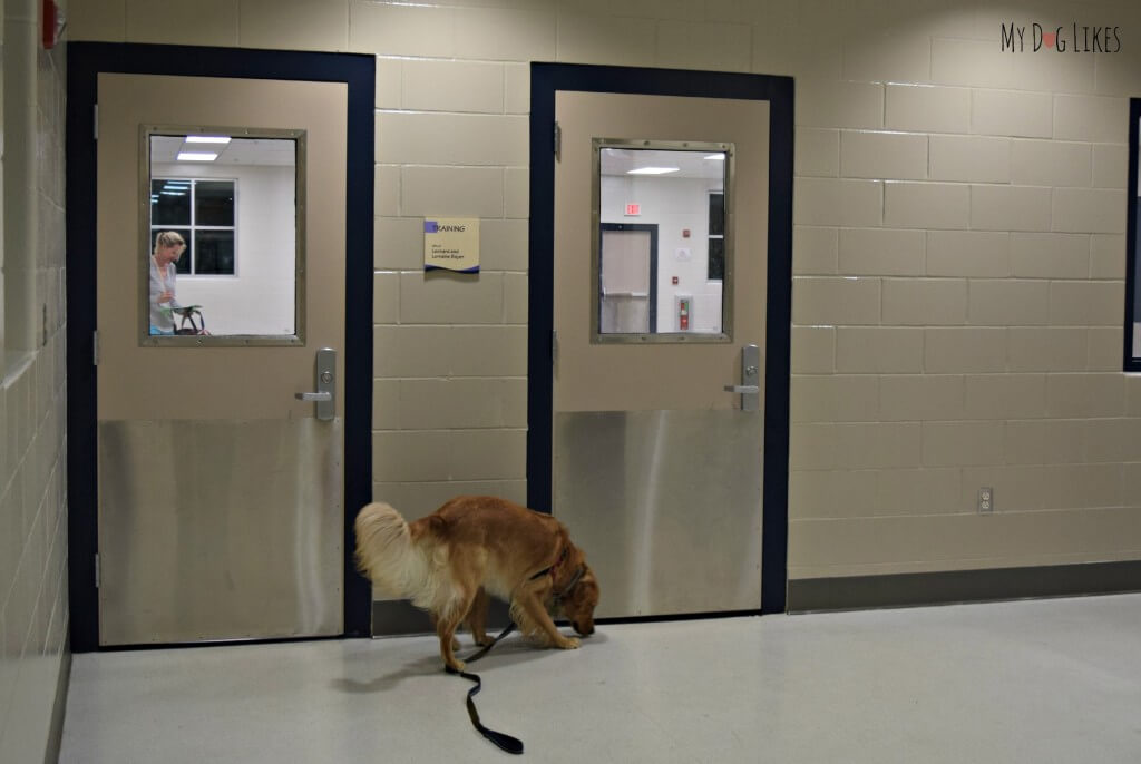
<instances>
[{"instance_id":1,"label":"narrow side wall of painted blocks along the far left edge","mask_svg":"<svg viewBox=\"0 0 1141 764\"><path fill-rule=\"evenodd\" d=\"M27 270L29 331L8 333L0 372L0 762L40 764L49 748L60 670L67 661L67 488L64 304L63 48L40 46L39 3L5 3L3 44L22 48L27 87L10 119L32 116L27 141L5 129L6 163L31 162L3 188L9 239L5 270ZM17 67L6 62L5 84ZM18 112L16 109L19 109ZM26 231L31 231L26 234ZM10 271L9 271L10 273ZM11 282L8 282L11 284Z\"/></svg>"}]
</instances>

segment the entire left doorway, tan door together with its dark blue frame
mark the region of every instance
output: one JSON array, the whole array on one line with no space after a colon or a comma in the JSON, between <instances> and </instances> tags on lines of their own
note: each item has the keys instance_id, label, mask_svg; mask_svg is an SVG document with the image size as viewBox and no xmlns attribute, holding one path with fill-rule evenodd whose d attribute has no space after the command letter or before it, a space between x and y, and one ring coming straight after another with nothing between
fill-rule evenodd
<instances>
[{"instance_id":1,"label":"entire left doorway, tan door together with its dark blue frame","mask_svg":"<svg viewBox=\"0 0 1141 764\"><path fill-rule=\"evenodd\" d=\"M367 56L68 46L74 651L370 633L369 585L356 575L350 550L351 507L371 495L374 76L375 62ZM259 106L264 96L286 100L274 91L290 82L308 83L313 94L323 94L318 98L331 99L322 108L332 121L302 124L304 115L278 114L273 103ZM171 98L171 89L184 86L195 92ZM249 92L238 92L243 88ZM100 100L107 106L102 117ZM201 111L187 111L194 104ZM169 114L171 106L178 113ZM106 132L100 136L99 130ZM173 177L177 165L167 162L173 157L167 156L163 141L188 144L189 137L202 135L249 141L241 147L246 155L289 154L289 170L273 173L293 173L290 187L276 194L253 180L270 171L238 170L238 164L218 177L189 171ZM318 136L319 149L314 143ZM254 146L259 140L265 143ZM323 157L323 166L306 164L310 149ZM116 169L123 177L114 181ZM318 189L315 182L329 186ZM288 262L272 325L241 323L248 317L237 308L250 301L227 300L217 291L235 287L243 263L269 273L253 268L258 223L243 222L235 201L243 193L258 196L257 188L284 200L285 211L272 217L296 234L290 239L294 246L277 247L284 251L278 259ZM163 190L197 200L188 202L186 220L178 217L177 203L155 201L164 200ZM333 204L321 219L306 201L315 192L330 194ZM207 320L232 314L217 333L184 335L155 325L146 265L151 239L157 236L156 250L167 242L159 234L181 239L193 251L192 274L199 269L218 282L196 285L189 276L179 282L186 296L194 286L215 288L213 312L203 304L201 314ZM126 238L112 241L115 236ZM321 252L331 253L327 268L314 260L325 257ZM108 271L115 257L126 260ZM220 284L226 278L234 283ZM264 296L254 302L268 304ZM326 309L329 300L335 309ZM326 364L332 413L323 415L317 409L324 404L296 400L294 395L317 390L325 368L318 351L326 347L337 357ZM274 372L289 390L274 395L266 395L257 371L241 371L243 364L269 371L278 363L291 368ZM276 434L270 432L275 429ZM290 442L297 447L286 447ZM322 480L302 478L313 474ZM302 483L307 488L301 493L290 488ZM318 483L327 488L325 498L310 496L308 487ZM282 499L291 493L294 501ZM276 513L267 512L268 506L277 506ZM270 575L257 572L259 566ZM163 600L173 607L160 607ZM207 604L197 608L200 601ZM179 623L195 609L220 620Z\"/></svg>"}]
</instances>

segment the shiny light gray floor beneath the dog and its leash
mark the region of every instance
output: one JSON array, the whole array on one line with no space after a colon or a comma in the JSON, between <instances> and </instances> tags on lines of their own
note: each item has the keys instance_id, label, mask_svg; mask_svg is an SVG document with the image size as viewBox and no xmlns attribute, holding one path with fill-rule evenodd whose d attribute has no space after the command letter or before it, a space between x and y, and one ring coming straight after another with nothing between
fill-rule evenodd
<instances>
[{"instance_id":1,"label":"shiny light gray floor beneath the dog and its leash","mask_svg":"<svg viewBox=\"0 0 1141 764\"><path fill-rule=\"evenodd\" d=\"M1141 594L604 625L472 668L544 764L1141 762ZM515 761L469 686L430 637L80 655L60 762Z\"/></svg>"}]
</instances>

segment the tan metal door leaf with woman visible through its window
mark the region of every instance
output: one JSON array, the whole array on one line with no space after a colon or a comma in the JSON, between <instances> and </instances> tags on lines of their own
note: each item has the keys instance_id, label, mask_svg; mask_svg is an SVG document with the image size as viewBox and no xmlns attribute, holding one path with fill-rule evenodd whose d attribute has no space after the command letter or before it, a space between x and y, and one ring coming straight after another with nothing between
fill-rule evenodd
<instances>
[{"instance_id":1,"label":"tan metal door leaf with woman visible through its window","mask_svg":"<svg viewBox=\"0 0 1141 764\"><path fill-rule=\"evenodd\" d=\"M99 642L341 633L346 86L100 74L98 92ZM159 156L197 132L284 146L267 162L290 180ZM153 225L159 178L199 184L191 223ZM219 204L229 228L205 225ZM152 334L163 227L195 253L178 296L209 335ZM318 418L294 395L317 390L323 348L334 403Z\"/></svg>"}]
</instances>

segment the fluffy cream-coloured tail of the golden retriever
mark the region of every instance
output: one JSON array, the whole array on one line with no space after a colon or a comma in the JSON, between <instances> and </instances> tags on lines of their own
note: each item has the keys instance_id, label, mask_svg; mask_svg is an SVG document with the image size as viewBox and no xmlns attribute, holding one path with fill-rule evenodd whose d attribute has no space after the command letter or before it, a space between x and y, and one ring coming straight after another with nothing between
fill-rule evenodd
<instances>
[{"instance_id":1,"label":"fluffy cream-coloured tail of the golden retriever","mask_svg":"<svg viewBox=\"0 0 1141 764\"><path fill-rule=\"evenodd\" d=\"M439 588L430 550L416 544L400 513L383 502L366 505L356 519L357 568L387 594L429 607Z\"/></svg>"}]
</instances>

